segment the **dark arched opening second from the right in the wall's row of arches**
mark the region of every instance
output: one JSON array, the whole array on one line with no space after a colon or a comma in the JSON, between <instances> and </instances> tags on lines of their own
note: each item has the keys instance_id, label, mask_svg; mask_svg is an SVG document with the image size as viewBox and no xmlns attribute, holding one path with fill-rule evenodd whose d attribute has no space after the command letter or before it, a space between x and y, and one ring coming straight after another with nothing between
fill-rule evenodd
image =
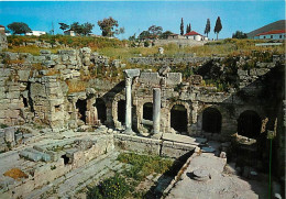
<instances>
[{"instance_id":1,"label":"dark arched opening second from the right in the wall's row of arches","mask_svg":"<svg viewBox=\"0 0 286 199\"><path fill-rule=\"evenodd\" d=\"M202 112L202 130L219 133L221 130L221 113L216 108L207 108Z\"/></svg>"}]
</instances>

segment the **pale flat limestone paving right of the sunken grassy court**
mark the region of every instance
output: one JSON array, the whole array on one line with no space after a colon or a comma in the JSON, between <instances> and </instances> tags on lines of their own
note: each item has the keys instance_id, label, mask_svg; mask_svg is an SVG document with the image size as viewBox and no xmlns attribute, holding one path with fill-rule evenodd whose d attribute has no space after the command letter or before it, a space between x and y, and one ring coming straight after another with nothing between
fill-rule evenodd
<instances>
[{"instance_id":1,"label":"pale flat limestone paving right of the sunken grassy court","mask_svg":"<svg viewBox=\"0 0 286 199\"><path fill-rule=\"evenodd\" d=\"M195 155L179 180L170 189L166 199L256 199L267 197L267 185L260 181L248 181L237 175L224 174L226 158L213 154ZM211 179L199 181L193 178L193 172L207 170ZM257 188L260 187L260 188Z\"/></svg>"}]
</instances>

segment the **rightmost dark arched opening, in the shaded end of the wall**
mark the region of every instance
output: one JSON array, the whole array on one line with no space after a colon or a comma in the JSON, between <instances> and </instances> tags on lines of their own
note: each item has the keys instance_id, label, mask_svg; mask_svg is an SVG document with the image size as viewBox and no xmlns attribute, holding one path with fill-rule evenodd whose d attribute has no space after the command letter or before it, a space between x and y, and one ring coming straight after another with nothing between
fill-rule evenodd
<instances>
[{"instance_id":1,"label":"rightmost dark arched opening, in the shaded end of the wall","mask_svg":"<svg viewBox=\"0 0 286 199\"><path fill-rule=\"evenodd\" d=\"M250 139L257 139L261 133L261 118L255 111L244 111L238 120L238 133Z\"/></svg>"}]
</instances>

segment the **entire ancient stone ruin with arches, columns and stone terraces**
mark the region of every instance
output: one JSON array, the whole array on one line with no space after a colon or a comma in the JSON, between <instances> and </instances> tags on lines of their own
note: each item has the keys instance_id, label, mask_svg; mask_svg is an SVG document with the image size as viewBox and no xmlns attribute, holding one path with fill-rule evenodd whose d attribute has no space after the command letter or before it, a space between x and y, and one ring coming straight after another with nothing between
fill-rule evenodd
<instances>
[{"instance_id":1,"label":"entire ancient stone ruin with arches, columns and stone terraces","mask_svg":"<svg viewBox=\"0 0 286 199\"><path fill-rule=\"evenodd\" d=\"M57 54L45 49L38 56L1 52L0 59L0 198L48 196L44 194L51 194L53 185L54 196L73 197L98 179L100 169L108 173L119 150L188 156L161 190L166 198L206 198L222 190L224 198L253 198L260 190L250 186L239 190L230 184L244 185L237 175L260 180L267 174L271 135L274 184L278 187L285 180L284 55L249 68L244 66L252 57L238 56L231 73L227 58L219 56L133 57L133 64L162 67L128 69L88 47ZM170 70L182 62L199 65L198 73L186 79ZM124 76L82 80L90 76L90 67L101 66L123 68ZM216 75L237 86L219 90L204 85ZM26 176L9 177L11 168ZM229 175L223 177L226 169ZM98 170L98 176L84 175L85 170Z\"/></svg>"}]
</instances>

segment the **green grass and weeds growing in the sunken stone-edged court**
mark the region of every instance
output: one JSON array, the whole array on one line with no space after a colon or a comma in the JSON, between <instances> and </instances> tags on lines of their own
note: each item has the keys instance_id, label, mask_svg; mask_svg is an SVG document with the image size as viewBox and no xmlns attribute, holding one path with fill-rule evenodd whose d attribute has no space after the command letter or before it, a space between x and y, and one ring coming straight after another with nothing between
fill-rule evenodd
<instances>
[{"instance_id":1,"label":"green grass and weeds growing in the sunken stone-edged court","mask_svg":"<svg viewBox=\"0 0 286 199\"><path fill-rule=\"evenodd\" d=\"M174 164L172 159L134 153L121 153L117 161L131 165L131 167L123 166L121 174L116 174L95 187L87 187L88 199L144 198L146 192L136 190L138 185L151 174L168 172Z\"/></svg>"}]
</instances>

